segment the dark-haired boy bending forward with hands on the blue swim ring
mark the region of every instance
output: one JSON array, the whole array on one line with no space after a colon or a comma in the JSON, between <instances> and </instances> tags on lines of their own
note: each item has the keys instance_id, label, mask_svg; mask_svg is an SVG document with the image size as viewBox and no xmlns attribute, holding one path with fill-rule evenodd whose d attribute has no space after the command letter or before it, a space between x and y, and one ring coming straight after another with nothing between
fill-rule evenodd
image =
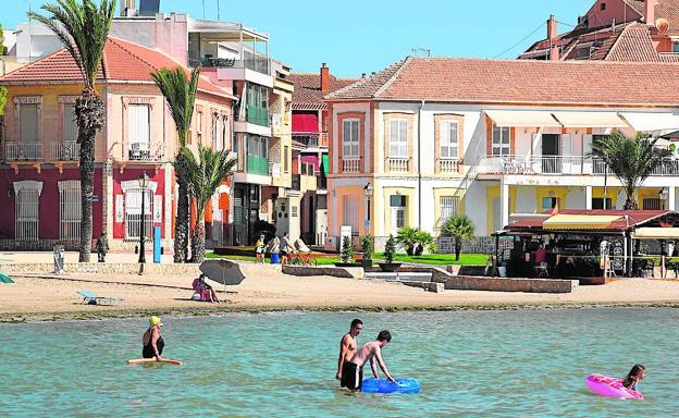
<instances>
[{"instance_id":1,"label":"dark-haired boy bending forward with hands on the blue swim ring","mask_svg":"<svg viewBox=\"0 0 679 418\"><path fill-rule=\"evenodd\" d=\"M395 382L396 379L386 370L386 365L382 359L382 348L392 341L392 334L388 331L380 331L378 340L363 344L362 347L356 353L354 358L343 367L342 382L343 386L350 389L351 391L360 391L361 383L363 382L363 366L366 361L370 360L370 368L372 369L372 376L375 379L380 379L378 374L378 368L375 367L375 360L380 368L386 376L386 379L391 382Z\"/></svg>"}]
</instances>

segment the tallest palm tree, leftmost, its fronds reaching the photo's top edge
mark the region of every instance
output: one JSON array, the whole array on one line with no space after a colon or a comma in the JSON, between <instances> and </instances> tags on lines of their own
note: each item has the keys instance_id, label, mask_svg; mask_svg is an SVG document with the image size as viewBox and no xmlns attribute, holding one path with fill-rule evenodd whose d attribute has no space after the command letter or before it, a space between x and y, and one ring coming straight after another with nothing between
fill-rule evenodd
<instances>
[{"instance_id":1,"label":"tallest palm tree, leftmost, its fronds reaching the photo's top edge","mask_svg":"<svg viewBox=\"0 0 679 418\"><path fill-rule=\"evenodd\" d=\"M115 0L57 0L41 8L49 15L28 13L57 35L77 64L85 88L75 102L75 119L81 145L81 262L89 261L92 235L91 202L95 193L95 137L104 123L104 104L95 90L97 72L103 58L109 29L115 12Z\"/></svg>"}]
</instances>

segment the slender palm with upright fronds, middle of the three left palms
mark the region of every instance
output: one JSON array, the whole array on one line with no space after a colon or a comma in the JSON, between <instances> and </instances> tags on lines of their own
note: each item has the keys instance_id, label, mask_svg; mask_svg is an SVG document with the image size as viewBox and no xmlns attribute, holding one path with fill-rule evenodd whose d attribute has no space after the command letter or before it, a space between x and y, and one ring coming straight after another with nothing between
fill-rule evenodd
<instances>
[{"instance_id":1,"label":"slender palm with upright fronds, middle of the three left palms","mask_svg":"<svg viewBox=\"0 0 679 418\"><path fill-rule=\"evenodd\" d=\"M180 146L174 163L184 165L186 161L182 149L186 147L186 138L194 116L199 70L194 70L190 81L187 79L184 69L180 66L174 70L159 70L151 76L165 97L176 127ZM188 256L188 180L181 175L185 172L186 170L175 170L178 200L174 224L174 262L184 262Z\"/></svg>"}]
</instances>

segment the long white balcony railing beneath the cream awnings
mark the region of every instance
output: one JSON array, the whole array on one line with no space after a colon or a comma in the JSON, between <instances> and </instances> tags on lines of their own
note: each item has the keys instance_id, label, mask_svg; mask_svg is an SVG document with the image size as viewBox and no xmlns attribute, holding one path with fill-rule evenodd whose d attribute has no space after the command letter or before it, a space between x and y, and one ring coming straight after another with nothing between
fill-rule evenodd
<instances>
[{"instance_id":1,"label":"long white balcony railing beneath the cream awnings","mask_svg":"<svg viewBox=\"0 0 679 418\"><path fill-rule=\"evenodd\" d=\"M554 174L601 175L606 163L587 156L503 156L484 157L479 162L480 174ZM612 174L612 171L608 171ZM679 160L664 159L652 175L679 175Z\"/></svg>"}]
</instances>

